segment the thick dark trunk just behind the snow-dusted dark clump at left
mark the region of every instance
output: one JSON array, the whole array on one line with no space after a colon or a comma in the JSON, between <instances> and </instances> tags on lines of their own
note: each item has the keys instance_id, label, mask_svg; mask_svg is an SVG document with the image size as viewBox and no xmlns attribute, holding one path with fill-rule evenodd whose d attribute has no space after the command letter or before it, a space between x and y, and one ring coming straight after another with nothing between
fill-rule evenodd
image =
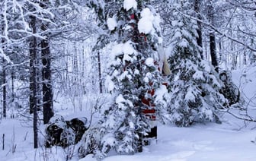
<instances>
[{"instance_id":1,"label":"thick dark trunk just behind the snow-dusted dark clump at left","mask_svg":"<svg viewBox=\"0 0 256 161\"><path fill-rule=\"evenodd\" d=\"M48 0L44 0L40 5L46 8ZM41 30L46 31L48 24L42 24ZM50 118L53 117L53 86L52 86L52 74L51 74L51 55L49 46L49 36L41 41L42 52L42 80L43 80L43 124L47 124Z\"/></svg>"}]
</instances>

